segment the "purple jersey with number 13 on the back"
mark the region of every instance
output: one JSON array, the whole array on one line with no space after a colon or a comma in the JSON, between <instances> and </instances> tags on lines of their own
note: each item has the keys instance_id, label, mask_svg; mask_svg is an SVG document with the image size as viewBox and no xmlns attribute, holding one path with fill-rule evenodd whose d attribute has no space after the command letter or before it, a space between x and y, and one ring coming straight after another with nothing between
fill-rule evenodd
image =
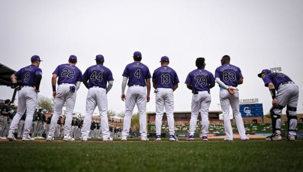
<instances>
[{"instance_id":1,"label":"purple jersey with number 13 on the back","mask_svg":"<svg viewBox=\"0 0 303 172\"><path fill-rule=\"evenodd\" d=\"M179 83L179 78L174 69L169 66L161 66L153 73L153 82L156 82L156 88L170 88Z\"/></svg>"}]
</instances>

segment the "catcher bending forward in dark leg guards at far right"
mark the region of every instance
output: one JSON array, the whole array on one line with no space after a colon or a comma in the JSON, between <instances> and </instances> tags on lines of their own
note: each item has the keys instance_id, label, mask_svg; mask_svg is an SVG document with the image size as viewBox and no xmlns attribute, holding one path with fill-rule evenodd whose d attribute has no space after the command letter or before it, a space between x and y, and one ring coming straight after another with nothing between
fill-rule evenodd
<instances>
[{"instance_id":1,"label":"catcher bending forward in dark leg guards at far right","mask_svg":"<svg viewBox=\"0 0 303 172\"><path fill-rule=\"evenodd\" d=\"M266 137L266 140L282 140L280 131L282 125L281 115L282 109L286 106L288 123L286 139L294 141L296 139L296 109L299 98L299 87L284 73L276 73L271 72L269 69L263 69L258 76L263 79L264 85L268 87L273 99L273 107L270 110L273 134Z\"/></svg>"}]
</instances>

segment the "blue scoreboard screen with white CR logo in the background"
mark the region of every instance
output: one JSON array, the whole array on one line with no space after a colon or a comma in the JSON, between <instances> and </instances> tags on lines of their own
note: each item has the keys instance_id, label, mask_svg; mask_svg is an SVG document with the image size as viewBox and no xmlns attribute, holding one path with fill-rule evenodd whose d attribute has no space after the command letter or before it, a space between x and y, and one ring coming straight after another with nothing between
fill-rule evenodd
<instances>
[{"instance_id":1,"label":"blue scoreboard screen with white CR logo in the background","mask_svg":"<svg viewBox=\"0 0 303 172\"><path fill-rule=\"evenodd\" d=\"M259 104L242 104L240 105L242 118L263 117L263 105Z\"/></svg>"}]
</instances>

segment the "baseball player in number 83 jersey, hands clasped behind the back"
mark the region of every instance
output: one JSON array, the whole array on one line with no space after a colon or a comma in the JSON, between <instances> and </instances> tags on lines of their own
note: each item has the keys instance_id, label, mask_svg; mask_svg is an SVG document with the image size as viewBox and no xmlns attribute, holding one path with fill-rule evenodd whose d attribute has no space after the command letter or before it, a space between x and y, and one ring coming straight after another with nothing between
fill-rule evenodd
<instances>
[{"instance_id":1,"label":"baseball player in number 83 jersey, hands clasped behind the back","mask_svg":"<svg viewBox=\"0 0 303 172\"><path fill-rule=\"evenodd\" d=\"M242 141L245 141L249 140L249 138L245 134L244 124L241 113L239 112L239 92L236 89L238 84L243 83L243 76L239 67L229 63L230 57L228 55L224 55L221 58L222 65L215 71L215 80L220 87L220 104L226 133L226 138L224 140L233 140L233 132L229 118L229 106L231 106L240 138Z\"/></svg>"}]
</instances>

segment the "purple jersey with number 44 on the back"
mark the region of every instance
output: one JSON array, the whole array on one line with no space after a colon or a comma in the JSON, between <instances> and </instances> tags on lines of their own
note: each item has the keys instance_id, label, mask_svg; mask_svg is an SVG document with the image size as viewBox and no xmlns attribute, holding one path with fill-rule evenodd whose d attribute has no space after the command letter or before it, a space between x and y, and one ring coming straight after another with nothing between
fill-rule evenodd
<instances>
[{"instance_id":1,"label":"purple jersey with number 44 on the back","mask_svg":"<svg viewBox=\"0 0 303 172\"><path fill-rule=\"evenodd\" d=\"M83 79L88 80L88 88L98 86L107 88L107 81L114 80L112 71L100 64L88 67L84 74Z\"/></svg>"}]
</instances>

